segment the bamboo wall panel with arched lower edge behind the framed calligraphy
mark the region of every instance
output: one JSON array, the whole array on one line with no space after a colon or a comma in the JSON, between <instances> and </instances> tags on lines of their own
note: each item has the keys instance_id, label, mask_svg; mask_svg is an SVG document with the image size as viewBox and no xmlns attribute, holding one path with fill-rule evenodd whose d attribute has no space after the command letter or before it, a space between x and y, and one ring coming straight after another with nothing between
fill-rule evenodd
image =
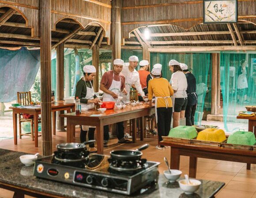
<instances>
[{"instance_id":1,"label":"bamboo wall panel with arched lower edge behind the framed calligraphy","mask_svg":"<svg viewBox=\"0 0 256 198\"><path fill-rule=\"evenodd\" d=\"M256 24L255 7L256 0L238 0L238 19ZM122 5L122 38L141 26L172 24L189 29L202 22L203 0L125 0Z\"/></svg>"}]
</instances>

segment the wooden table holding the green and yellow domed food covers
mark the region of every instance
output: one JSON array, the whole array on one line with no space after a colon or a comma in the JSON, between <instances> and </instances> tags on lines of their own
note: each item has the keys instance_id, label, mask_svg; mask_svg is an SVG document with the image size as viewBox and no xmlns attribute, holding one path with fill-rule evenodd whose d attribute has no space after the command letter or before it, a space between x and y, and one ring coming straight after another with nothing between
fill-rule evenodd
<instances>
[{"instance_id":1,"label":"wooden table holding the green and yellow domed food covers","mask_svg":"<svg viewBox=\"0 0 256 198\"><path fill-rule=\"evenodd\" d=\"M197 158L256 164L255 151L165 141L162 144L171 147L171 169L179 169L181 155L189 156L189 177L193 178L196 178Z\"/></svg>"}]
</instances>

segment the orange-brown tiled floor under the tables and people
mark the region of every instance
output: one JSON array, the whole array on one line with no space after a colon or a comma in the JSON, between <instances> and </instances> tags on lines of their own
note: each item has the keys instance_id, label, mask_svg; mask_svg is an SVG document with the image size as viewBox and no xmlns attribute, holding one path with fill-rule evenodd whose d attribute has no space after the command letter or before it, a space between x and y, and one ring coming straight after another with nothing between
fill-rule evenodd
<instances>
[{"instance_id":1,"label":"orange-brown tiled floor under the tables and people","mask_svg":"<svg viewBox=\"0 0 256 198\"><path fill-rule=\"evenodd\" d=\"M24 137L24 136L23 136ZM6 139L0 142L0 148L16 150L26 153L41 153L41 145L39 138L39 147L34 147L30 137L18 139L18 145L14 145L13 139ZM79 142L79 131L76 130L76 142ZM53 136L53 150L56 150L56 144L66 141L66 132L56 132ZM137 141L135 144L118 144L117 139L109 141L109 147L105 148L104 154L109 154L114 149L134 149L143 143L149 143L150 147L143 151L143 158L150 161L159 161L162 164L159 166L159 172L167 169L163 162L163 158L170 159L170 149L157 150L157 136L148 136L143 142ZM181 171L188 174L188 157L181 158ZM226 185L217 194L216 198L256 198L256 165L252 165L251 170L246 170L246 164L230 161L198 159L197 178L206 180L215 180L225 182ZM13 193L0 189L0 198L12 198ZM29 196L25 196L29 198Z\"/></svg>"}]
</instances>

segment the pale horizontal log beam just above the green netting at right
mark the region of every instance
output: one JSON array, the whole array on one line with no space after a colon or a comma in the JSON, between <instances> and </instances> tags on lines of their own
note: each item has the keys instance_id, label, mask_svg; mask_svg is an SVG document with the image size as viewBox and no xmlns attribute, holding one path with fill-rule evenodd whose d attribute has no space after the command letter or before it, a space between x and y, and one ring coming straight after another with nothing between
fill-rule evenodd
<instances>
[{"instance_id":1,"label":"pale horizontal log beam just above the green netting at right","mask_svg":"<svg viewBox=\"0 0 256 198\"><path fill-rule=\"evenodd\" d=\"M196 51L237 51L237 50L256 50L256 45L248 45L248 46L211 46L211 47L178 47L178 46L159 46L158 48L149 48L150 52L166 52L166 53L174 53L174 52L196 52Z\"/></svg>"}]
</instances>

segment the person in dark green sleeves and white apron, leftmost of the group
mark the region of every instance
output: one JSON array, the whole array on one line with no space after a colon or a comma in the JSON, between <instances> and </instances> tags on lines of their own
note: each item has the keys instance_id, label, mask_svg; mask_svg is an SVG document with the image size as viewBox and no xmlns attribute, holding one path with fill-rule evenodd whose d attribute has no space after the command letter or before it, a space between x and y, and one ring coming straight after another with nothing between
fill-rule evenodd
<instances>
[{"instance_id":1,"label":"person in dark green sleeves and white apron, leftmost of the group","mask_svg":"<svg viewBox=\"0 0 256 198\"><path fill-rule=\"evenodd\" d=\"M81 103L81 110L94 109L94 105L101 103L101 100L94 93L92 86L94 77L96 75L96 68L93 65L85 65L83 67L83 77L77 82L75 89L75 98L78 97ZM94 139L95 126L81 126L80 130L80 141L81 143L86 141L86 135L88 132L88 139ZM90 153L96 153L97 149L94 144L89 145Z\"/></svg>"}]
</instances>

